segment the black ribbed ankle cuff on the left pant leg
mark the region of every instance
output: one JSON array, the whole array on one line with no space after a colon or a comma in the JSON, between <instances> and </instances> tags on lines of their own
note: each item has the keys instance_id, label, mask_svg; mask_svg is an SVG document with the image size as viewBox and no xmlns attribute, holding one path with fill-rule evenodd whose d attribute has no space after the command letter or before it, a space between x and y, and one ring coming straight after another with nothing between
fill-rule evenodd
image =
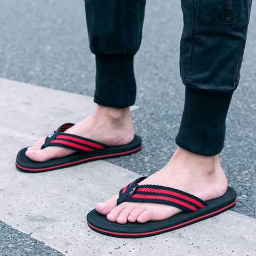
<instances>
[{"instance_id":1,"label":"black ribbed ankle cuff on the left pant leg","mask_svg":"<svg viewBox=\"0 0 256 256\"><path fill-rule=\"evenodd\" d=\"M117 108L134 104L136 82L133 57L129 54L96 55L95 103Z\"/></svg>"}]
</instances>

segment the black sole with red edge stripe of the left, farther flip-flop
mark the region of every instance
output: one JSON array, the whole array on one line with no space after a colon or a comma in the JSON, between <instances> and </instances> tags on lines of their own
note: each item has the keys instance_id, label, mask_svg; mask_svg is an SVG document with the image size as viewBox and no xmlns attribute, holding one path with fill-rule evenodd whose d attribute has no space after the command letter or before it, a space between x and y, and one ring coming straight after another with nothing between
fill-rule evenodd
<instances>
[{"instance_id":1,"label":"black sole with red edge stripe of the left, farther flip-flop","mask_svg":"<svg viewBox=\"0 0 256 256\"><path fill-rule=\"evenodd\" d=\"M139 151L140 149L141 138L138 135L134 135L133 141L123 146L113 146L106 149L91 151L88 153L76 152L66 157L54 158L43 163L38 163L31 161L25 155L27 148L23 148L19 151L17 155L16 166L22 172L47 172L95 161L98 159L130 155Z\"/></svg>"}]
</instances>

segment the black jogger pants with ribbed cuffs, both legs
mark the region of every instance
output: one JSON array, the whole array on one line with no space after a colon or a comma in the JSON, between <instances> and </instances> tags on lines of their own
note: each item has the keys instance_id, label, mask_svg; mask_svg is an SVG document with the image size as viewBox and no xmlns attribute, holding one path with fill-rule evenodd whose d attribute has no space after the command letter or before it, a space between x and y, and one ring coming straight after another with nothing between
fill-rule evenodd
<instances>
[{"instance_id":1,"label":"black jogger pants with ribbed cuffs, both legs","mask_svg":"<svg viewBox=\"0 0 256 256\"><path fill-rule=\"evenodd\" d=\"M226 115L239 82L252 0L181 0L180 74L185 108L176 142L201 155L223 148ZM146 0L85 0L90 49L96 56L94 101L135 102L133 56L139 50Z\"/></svg>"}]
</instances>

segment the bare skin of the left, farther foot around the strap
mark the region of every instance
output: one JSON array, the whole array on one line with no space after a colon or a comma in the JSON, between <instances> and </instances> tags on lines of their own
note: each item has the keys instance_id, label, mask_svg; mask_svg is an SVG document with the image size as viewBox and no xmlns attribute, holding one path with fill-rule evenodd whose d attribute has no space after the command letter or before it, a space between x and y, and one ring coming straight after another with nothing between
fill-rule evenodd
<instances>
[{"instance_id":1,"label":"bare skin of the left, farther foot around the strap","mask_svg":"<svg viewBox=\"0 0 256 256\"><path fill-rule=\"evenodd\" d=\"M134 137L130 108L98 105L93 115L86 117L65 132L89 138L107 146L125 145ZM75 150L55 146L41 150L45 138L39 139L33 147L29 147L26 156L36 162L45 162L75 153Z\"/></svg>"}]
</instances>

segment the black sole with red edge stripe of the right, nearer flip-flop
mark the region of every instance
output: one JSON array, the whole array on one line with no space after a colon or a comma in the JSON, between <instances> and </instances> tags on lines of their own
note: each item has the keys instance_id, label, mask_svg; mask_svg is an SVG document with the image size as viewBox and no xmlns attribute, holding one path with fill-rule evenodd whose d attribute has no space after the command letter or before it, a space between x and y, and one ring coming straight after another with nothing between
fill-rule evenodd
<instances>
[{"instance_id":1,"label":"black sole with red edge stripe of the right, nearer flip-flop","mask_svg":"<svg viewBox=\"0 0 256 256\"><path fill-rule=\"evenodd\" d=\"M226 193L210 201L203 209L192 213L181 212L162 221L148 221L146 223L127 222L124 225L110 222L105 215L99 214L95 209L87 214L89 227L103 235L120 238L141 238L169 232L186 227L201 220L211 218L229 210L236 202L236 191L228 187Z\"/></svg>"}]
</instances>

